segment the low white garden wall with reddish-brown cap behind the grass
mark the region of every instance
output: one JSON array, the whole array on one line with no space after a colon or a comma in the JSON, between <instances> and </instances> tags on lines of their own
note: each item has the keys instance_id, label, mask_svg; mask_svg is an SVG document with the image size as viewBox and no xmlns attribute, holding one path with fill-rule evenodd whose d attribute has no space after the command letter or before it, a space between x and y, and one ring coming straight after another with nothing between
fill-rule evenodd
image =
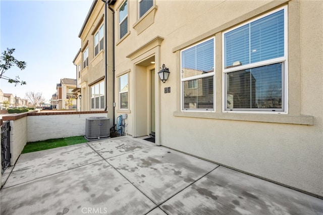
<instances>
[{"instance_id":1,"label":"low white garden wall with reddish-brown cap behind the grass","mask_svg":"<svg viewBox=\"0 0 323 215\"><path fill-rule=\"evenodd\" d=\"M10 121L11 165L14 165L27 142L85 135L89 117L106 117L107 112L45 112L4 116Z\"/></svg>"}]
</instances>

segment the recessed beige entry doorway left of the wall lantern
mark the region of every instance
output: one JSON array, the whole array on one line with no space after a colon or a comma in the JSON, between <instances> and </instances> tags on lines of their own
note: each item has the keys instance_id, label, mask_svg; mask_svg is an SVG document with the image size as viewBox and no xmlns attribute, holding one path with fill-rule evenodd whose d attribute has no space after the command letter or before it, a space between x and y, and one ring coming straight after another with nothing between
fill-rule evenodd
<instances>
[{"instance_id":1,"label":"recessed beige entry doorway left of the wall lantern","mask_svg":"<svg viewBox=\"0 0 323 215\"><path fill-rule=\"evenodd\" d=\"M135 65L134 71L134 136L155 138L155 58Z\"/></svg>"}]
</instances>

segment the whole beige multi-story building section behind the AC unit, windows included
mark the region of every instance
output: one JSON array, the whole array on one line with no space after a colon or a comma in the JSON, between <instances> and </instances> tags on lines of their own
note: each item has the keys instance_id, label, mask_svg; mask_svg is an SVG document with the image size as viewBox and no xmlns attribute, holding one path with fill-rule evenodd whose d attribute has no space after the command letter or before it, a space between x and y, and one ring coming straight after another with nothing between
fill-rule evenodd
<instances>
[{"instance_id":1,"label":"whole beige multi-story building section behind the AC unit, windows included","mask_svg":"<svg viewBox=\"0 0 323 215\"><path fill-rule=\"evenodd\" d=\"M104 6L102 1L93 1L79 32L81 49L73 60L77 68L77 86L74 92L82 96L78 99L79 110L108 111L107 117L111 118L112 126L113 68L112 22L110 21L112 14L107 14L108 22L105 23ZM106 50L106 43L110 44L108 50Z\"/></svg>"}]
</instances>

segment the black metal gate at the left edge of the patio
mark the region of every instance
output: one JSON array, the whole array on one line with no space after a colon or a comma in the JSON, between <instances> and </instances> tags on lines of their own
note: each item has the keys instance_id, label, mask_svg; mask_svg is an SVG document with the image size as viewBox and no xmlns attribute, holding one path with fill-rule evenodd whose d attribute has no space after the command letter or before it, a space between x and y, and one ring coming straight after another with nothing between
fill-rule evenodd
<instances>
[{"instance_id":1,"label":"black metal gate at the left edge of the patio","mask_svg":"<svg viewBox=\"0 0 323 215\"><path fill-rule=\"evenodd\" d=\"M1 125L1 174L10 166L10 121Z\"/></svg>"}]
</instances>

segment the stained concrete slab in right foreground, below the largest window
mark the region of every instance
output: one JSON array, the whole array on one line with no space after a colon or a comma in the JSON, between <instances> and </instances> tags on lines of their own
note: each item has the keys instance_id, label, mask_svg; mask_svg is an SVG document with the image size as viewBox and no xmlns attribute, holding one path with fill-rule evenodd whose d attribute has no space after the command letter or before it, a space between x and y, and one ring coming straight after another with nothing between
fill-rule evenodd
<instances>
[{"instance_id":1,"label":"stained concrete slab in right foreground, below the largest window","mask_svg":"<svg viewBox=\"0 0 323 215\"><path fill-rule=\"evenodd\" d=\"M219 167L161 208L169 214L323 214L323 200Z\"/></svg>"}]
</instances>

